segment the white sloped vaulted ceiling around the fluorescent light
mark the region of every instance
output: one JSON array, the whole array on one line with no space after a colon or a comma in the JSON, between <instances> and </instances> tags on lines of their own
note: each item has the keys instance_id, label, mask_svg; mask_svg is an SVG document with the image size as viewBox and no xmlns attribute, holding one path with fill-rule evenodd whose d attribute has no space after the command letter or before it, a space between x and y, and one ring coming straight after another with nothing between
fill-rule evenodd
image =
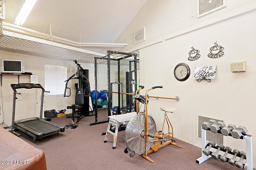
<instances>
[{"instance_id":1,"label":"white sloped vaulted ceiling around the fluorescent light","mask_svg":"<svg viewBox=\"0 0 256 170\"><path fill-rule=\"evenodd\" d=\"M114 43L146 1L37 0L22 27L78 44ZM6 0L4 22L13 24L24 2ZM52 41L51 37L41 38ZM80 48L106 54L111 47Z\"/></svg>"}]
</instances>

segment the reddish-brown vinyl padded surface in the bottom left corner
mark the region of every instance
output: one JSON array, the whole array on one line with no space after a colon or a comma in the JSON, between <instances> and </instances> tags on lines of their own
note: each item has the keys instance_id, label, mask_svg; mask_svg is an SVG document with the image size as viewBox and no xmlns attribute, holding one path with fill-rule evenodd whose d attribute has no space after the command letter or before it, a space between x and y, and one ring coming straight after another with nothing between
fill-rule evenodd
<instances>
[{"instance_id":1,"label":"reddish-brown vinyl padded surface in the bottom left corner","mask_svg":"<svg viewBox=\"0 0 256 170\"><path fill-rule=\"evenodd\" d=\"M0 137L1 170L46 170L46 159L41 149L1 126Z\"/></svg>"}]
</instances>

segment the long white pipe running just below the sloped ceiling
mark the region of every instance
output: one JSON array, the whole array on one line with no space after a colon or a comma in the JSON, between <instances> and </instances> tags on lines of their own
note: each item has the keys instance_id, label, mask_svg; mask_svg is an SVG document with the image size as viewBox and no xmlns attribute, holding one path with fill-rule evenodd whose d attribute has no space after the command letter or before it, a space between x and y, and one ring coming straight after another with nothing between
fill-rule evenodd
<instances>
[{"instance_id":1,"label":"long white pipe running just below the sloped ceiling","mask_svg":"<svg viewBox=\"0 0 256 170\"><path fill-rule=\"evenodd\" d=\"M44 40L51 38L52 41L63 43L65 45L71 45L74 47L125 47L128 45L127 43L78 43L76 41L71 41L68 39L52 36L46 33L41 33L32 29L14 25L12 23L7 23L7 22L2 22L2 23L3 23L4 30L21 33L28 36L33 36L33 37L41 38Z\"/></svg>"}]
</instances>

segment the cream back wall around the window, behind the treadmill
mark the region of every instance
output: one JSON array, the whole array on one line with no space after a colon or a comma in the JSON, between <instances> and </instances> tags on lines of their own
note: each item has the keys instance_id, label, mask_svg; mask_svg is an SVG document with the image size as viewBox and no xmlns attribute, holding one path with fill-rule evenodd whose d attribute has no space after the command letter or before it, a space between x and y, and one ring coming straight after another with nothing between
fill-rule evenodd
<instances>
[{"instance_id":1,"label":"cream back wall around the window, behind the treadmill","mask_svg":"<svg viewBox=\"0 0 256 170\"><path fill-rule=\"evenodd\" d=\"M44 64L59 65L67 67L67 78L72 76L75 72L75 63L73 61L62 61L56 59L48 59L43 57L35 57L30 55L22 55L17 53L10 53L6 51L0 51L0 59L17 59L24 60L25 72L32 72L34 75L38 75L38 83L44 87ZM89 81L91 90L94 90L94 64L80 63L84 69L89 70ZM30 82L29 76L20 76L20 83ZM75 86L78 80L70 80L68 87L71 88L71 96L45 96L44 98L44 110L66 109L67 106L74 104ZM1 115L0 122L4 120L7 125L11 125L12 122L12 100L13 91L10 84L17 84L18 76L2 76L2 87L0 93L1 103ZM15 120L24 119L28 117L39 117L40 114L40 102L42 91L38 89L21 89L17 90L22 95L17 95L16 100L16 115ZM46 89L47 91L47 89ZM64 92L64 89L63 89ZM27 96L27 97L26 97ZM3 110L2 110L3 109ZM71 113L71 109L67 109L66 113Z\"/></svg>"}]
</instances>

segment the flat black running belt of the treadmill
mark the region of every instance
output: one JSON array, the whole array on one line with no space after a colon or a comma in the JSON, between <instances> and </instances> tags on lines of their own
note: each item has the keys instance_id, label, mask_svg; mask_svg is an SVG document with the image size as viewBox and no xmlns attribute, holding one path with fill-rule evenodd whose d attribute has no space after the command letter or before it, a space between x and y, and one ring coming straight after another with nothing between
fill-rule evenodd
<instances>
[{"instance_id":1,"label":"flat black running belt of the treadmill","mask_svg":"<svg viewBox=\"0 0 256 170\"><path fill-rule=\"evenodd\" d=\"M22 124L42 133L43 135L48 135L60 130L60 128L40 120L27 121Z\"/></svg>"}]
</instances>

